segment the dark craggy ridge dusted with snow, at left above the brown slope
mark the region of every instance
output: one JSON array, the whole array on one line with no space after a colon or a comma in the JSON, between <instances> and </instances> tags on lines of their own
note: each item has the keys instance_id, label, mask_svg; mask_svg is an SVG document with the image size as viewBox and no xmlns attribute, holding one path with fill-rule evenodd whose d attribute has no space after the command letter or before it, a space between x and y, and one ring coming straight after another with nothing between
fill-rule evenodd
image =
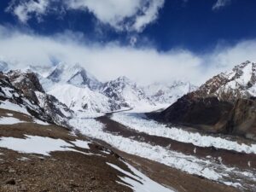
<instances>
[{"instance_id":1,"label":"dark craggy ridge dusted with snow, at left above the brown slope","mask_svg":"<svg viewBox=\"0 0 256 192\"><path fill-rule=\"evenodd\" d=\"M2 73L0 80L3 106L8 108L13 103L38 119L68 126L67 121L73 111L54 96L46 94L35 73L10 71Z\"/></svg>"}]
</instances>

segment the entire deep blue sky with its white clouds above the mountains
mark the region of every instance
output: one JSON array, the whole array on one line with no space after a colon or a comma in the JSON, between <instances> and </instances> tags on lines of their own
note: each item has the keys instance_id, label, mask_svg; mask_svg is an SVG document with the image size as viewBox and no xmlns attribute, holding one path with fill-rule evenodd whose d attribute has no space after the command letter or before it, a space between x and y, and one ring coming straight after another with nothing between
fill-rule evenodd
<instances>
[{"instance_id":1,"label":"entire deep blue sky with its white clouds above the mountains","mask_svg":"<svg viewBox=\"0 0 256 192\"><path fill-rule=\"evenodd\" d=\"M2 40L5 39L6 44L7 41L14 44L15 49L21 48L22 44L15 45L14 39L19 42L20 37L25 35L30 39L26 42L38 42L39 46L46 42L51 47L53 44L62 44L64 52L71 52L71 47L75 47L81 55L83 49L93 49L95 55L109 54L109 57L114 52L119 53L119 64L116 65L120 67L112 67L120 69L106 75L106 79L118 74L142 79L140 73L135 75L125 71L142 72L143 67L129 67L129 63L131 66L143 66L139 63L149 62L143 59L147 54L155 55L151 59L159 63L155 64L155 68L163 65L154 80L166 81L171 80L170 76L173 76L172 79L182 79L187 76L182 73L183 69L191 68L191 72L195 69L195 74L189 76L188 80L201 82L213 73L218 73L218 68L228 69L240 61L256 58L253 55L256 38L254 0L2 0L0 26ZM240 49L245 51L244 47L247 52L240 52ZM27 48L24 56L15 52L14 58L22 61L23 57L25 62L24 58L31 51ZM40 51L42 49L38 49ZM11 57L3 52L3 58ZM49 50L46 52L42 58L39 56L41 61L27 58L27 62L41 65L42 61L61 61L62 57L57 55L64 54L55 51L50 53ZM84 57L70 53L66 61L81 62L103 76L96 69L102 67L102 61L93 58L86 60L88 52L85 52ZM121 60L125 54L131 58L128 64ZM44 58L46 56L49 60ZM115 58L105 59L110 63ZM178 69L177 63L182 63L183 67ZM176 77L175 74L164 73L165 67L170 71L181 72ZM207 76L196 79L198 73L203 71L207 71Z\"/></svg>"}]
</instances>

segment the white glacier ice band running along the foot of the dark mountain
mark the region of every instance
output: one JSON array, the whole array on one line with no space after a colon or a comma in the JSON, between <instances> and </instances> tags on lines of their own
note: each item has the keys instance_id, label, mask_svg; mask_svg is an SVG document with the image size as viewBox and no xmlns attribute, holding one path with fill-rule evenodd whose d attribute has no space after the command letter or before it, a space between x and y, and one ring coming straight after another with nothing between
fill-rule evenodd
<instances>
[{"instance_id":1,"label":"white glacier ice band running along the foot of the dark mountain","mask_svg":"<svg viewBox=\"0 0 256 192\"><path fill-rule=\"evenodd\" d=\"M199 147L223 148L241 153L256 154L256 144L247 145L245 143L230 141L226 138L203 136L200 133L184 131L176 127L170 128L154 120L147 119L144 114L113 113L111 119L132 130L144 132L148 135L167 137L182 143L193 143Z\"/></svg>"}]
</instances>

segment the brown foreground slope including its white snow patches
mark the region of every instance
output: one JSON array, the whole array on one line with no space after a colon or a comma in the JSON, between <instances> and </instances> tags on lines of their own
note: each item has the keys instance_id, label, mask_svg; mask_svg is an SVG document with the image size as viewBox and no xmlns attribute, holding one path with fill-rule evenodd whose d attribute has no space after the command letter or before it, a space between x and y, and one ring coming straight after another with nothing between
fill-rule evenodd
<instances>
[{"instance_id":1,"label":"brown foreground slope including its white snow patches","mask_svg":"<svg viewBox=\"0 0 256 192\"><path fill-rule=\"evenodd\" d=\"M1 192L172 192L88 137L26 113L0 108L0 116Z\"/></svg>"}]
</instances>

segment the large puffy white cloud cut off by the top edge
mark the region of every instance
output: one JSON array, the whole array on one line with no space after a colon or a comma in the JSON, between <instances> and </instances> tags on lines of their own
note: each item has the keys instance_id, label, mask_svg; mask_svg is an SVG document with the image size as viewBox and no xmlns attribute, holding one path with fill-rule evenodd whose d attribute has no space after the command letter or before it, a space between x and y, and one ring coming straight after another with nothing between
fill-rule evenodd
<instances>
[{"instance_id":1,"label":"large puffy white cloud cut off by the top edge","mask_svg":"<svg viewBox=\"0 0 256 192\"><path fill-rule=\"evenodd\" d=\"M25 0L15 2L10 3L8 10L23 23L31 19L32 15L41 20L41 17L49 11L60 14L59 10L53 7L59 3L67 10L89 11L96 16L97 20L116 30L142 32L145 26L158 18L159 10L164 6L165 0Z\"/></svg>"}]
</instances>

